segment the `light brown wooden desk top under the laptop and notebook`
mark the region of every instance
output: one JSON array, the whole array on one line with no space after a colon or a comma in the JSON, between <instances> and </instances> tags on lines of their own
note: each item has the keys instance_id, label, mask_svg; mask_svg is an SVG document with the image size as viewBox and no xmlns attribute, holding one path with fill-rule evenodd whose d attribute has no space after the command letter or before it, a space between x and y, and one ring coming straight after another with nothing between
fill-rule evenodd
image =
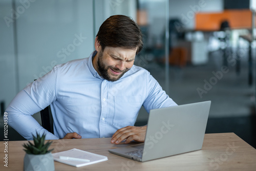
<instances>
[{"instance_id":1,"label":"light brown wooden desk top under the laptop and notebook","mask_svg":"<svg viewBox=\"0 0 256 171\"><path fill-rule=\"evenodd\" d=\"M8 142L8 168L3 164L4 144L0 145L0 170L23 170L25 152L22 144L27 141ZM78 148L104 155L108 161L73 167L54 162L55 170L255 170L256 149L234 133L205 134L202 150L170 156L162 159L138 162L108 152L109 148L125 146L114 145L110 138L54 140L50 148L53 153Z\"/></svg>"}]
</instances>

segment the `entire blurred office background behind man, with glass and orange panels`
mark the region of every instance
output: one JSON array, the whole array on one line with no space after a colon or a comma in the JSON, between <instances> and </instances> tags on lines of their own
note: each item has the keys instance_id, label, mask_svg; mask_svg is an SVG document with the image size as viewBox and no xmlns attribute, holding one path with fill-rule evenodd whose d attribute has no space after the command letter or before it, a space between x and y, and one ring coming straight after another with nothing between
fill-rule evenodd
<instances>
[{"instance_id":1,"label":"entire blurred office background behind man, with glass and orange panels","mask_svg":"<svg viewBox=\"0 0 256 171\"><path fill-rule=\"evenodd\" d=\"M123 14L144 35L135 65L178 104L211 100L206 133L234 132L256 147L252 2L0 0L1 130L5 108L20 90L59 63L88 57L102 22ZM34 117L40 123L40 114ZM136 125L147 118L142 108ZM8 132L9 140L24 140Z\"/></svg>"}]
</instances>

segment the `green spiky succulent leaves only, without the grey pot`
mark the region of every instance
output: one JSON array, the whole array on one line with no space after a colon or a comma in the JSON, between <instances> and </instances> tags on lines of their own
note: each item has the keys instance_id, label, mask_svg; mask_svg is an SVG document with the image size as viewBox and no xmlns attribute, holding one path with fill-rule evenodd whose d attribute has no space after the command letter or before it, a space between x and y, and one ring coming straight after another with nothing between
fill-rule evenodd
<instances>
[{"instance_id":1,"label":"green spiky succulent leaves only, without the grey pot","mask_svg":"<svg viewBox=\"0 0 256 171\"><path fill-rule=\"evenodd\" d=\"M38 133L36 133L36 137L33 135L34 144L31 142L24 143L23 146L25 147L24 151L27 154L33 154L33 155L43 155L47 153L51 153L53 149L48 150L49 146L51 145L52 141L48 141L45 144L45 138L46 134L43 134L40 136Z\"/></svg>"}]
</instances>

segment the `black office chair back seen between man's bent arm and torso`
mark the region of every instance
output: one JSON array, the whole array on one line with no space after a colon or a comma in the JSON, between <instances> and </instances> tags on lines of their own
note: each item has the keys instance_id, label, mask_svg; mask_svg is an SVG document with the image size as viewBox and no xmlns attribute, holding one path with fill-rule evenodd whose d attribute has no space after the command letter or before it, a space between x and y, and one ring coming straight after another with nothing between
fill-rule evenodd
<instances>
[{"instance_id":1,"label":"black office chair back seen between man's bent arm and torso","mask_svg":"<svg viewBox=\"0 0 256 171\"><path fill-rule=\"evenodd\" d=\"M53 134L53 117L50 105L40 111L42 127Z\"/></svg>"}]
</instances>

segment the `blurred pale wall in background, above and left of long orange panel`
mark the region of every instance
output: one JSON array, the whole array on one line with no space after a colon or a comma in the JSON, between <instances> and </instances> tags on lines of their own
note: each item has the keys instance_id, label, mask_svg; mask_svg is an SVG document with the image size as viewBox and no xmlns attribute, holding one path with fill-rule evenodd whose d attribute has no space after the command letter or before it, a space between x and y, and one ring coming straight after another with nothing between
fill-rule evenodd
<instances>
[{"instance_id":1,"label":"blurred pale wall in background, above and left of long orange panel","mask_svg":"<svg viewBox=\"0 0 256 171\"><path fill-rule=\"evenodd\" d=\"M169 0L169 16L181 19L185 29L194 29L195 13L221 12L223 3L223 0Z\"/></svg>"}]
</instances>

